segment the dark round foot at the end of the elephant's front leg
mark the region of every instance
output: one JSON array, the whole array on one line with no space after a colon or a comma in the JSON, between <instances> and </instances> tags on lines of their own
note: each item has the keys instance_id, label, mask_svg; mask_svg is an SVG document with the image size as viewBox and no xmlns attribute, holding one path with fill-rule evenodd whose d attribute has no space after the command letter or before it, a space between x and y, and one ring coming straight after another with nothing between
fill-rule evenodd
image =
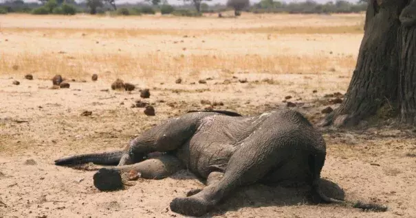
<instances>
[{"instance_id":1,"label":"dark round foot at the end of the elephant's front leg","mask_svg":"<svg viewBox=\"0 0 416 218\"><path fill-rule=\"evenodd\" d=\"M120 170L99 169L94 174L94 186L100 191L116 191L123 188Z\"/></svg>"}]
</instances>

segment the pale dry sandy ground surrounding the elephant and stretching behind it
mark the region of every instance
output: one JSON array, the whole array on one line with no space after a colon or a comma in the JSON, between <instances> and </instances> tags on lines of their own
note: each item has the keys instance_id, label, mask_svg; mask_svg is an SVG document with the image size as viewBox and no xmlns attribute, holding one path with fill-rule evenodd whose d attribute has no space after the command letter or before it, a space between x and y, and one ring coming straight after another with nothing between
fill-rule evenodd
<instances>
[{"instance_id":1,"label":"pale dry sandy ground surrounding the elephant and stretching behind it","mask_svg":"<svg viewBox=\"0 0 416 218\"><path fill-rule=\"evenodd\" d=\"M206 108L201 100L257 114L285 108L290 95L294 110L317 123L323 108L339 105L324 95L347 90L362 38L349 27L362 19L362 14L247 14L223 20L0 16L0 217L182 217L168 209L171 199L203 186L187 171L103 193L92 184L94 171L56 167L53 160L121 149L168 117ZM34 80L23 79L26 73ZM76 82L50 89L56 73ZM98 73L97 82L91 82L92 73ZM111 90L116 77L138 88ZM182 84L175 84L177 77ZM212 80L198 83L208 77ZM243 79L248 82L239 82ZM140 99L139 88L150 88L150 99L142 101L155 107L155 117L131 108ZM84 110L92 115L80 116ZM328 147L322 177L338 184L345 199L385 204L387 212L311 205L304 189L257 185L237 191L207 216L416 217L414 131L370 127L322 133Z\"/></svg>"}]
</instances>

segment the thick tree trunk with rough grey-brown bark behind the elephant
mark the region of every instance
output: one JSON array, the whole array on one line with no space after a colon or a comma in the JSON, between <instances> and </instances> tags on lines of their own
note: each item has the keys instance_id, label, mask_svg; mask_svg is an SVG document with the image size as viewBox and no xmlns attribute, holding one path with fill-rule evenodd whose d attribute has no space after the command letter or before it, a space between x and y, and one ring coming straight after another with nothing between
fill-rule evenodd
<instances>
[{"instance_id":1,"label":"thick tree trunk with rough grey-brown bark behind the elephant","mask_svg":"<svg viewBox=\"0 0 416 218\"><path fill-rule=\"evenodd\" d=\"M416 0L369 0L345 100L320 123L350 127L388 108L416 124Z\"/></svg>"}]
</instances>

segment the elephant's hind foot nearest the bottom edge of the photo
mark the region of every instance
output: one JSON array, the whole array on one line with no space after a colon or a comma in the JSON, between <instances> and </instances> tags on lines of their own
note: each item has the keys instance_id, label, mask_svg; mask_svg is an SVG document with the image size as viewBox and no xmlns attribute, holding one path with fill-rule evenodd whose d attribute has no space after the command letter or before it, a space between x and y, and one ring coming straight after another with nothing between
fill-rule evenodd
<instances>
[{"instance_id":1,"label":"elephant's hind foot nearest the bottom edge of the photo","mask_svg":"<svg viewBox=\"0 0 416 218\"><path fill-rule=\"evenodd\" d=\"M211 207L206 200L196 197L177 197L171 202L173 212L193 217L204 215Z\"/></svg>"}]
</instances>

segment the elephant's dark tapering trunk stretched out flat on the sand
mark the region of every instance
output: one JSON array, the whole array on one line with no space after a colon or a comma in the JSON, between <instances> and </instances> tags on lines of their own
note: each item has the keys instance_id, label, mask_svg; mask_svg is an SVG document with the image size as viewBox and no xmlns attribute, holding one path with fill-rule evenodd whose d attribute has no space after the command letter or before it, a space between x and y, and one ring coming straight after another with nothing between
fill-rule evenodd
<instances>
[{"instance_id":1,"label":"elephant's dark tapering trunk stretched out flat on the sand","mask_svg":"<svg viewBox=\"0 0 416 218\"><path fill-rule=\"evenodd\" d=\"M80 154L55 160L55 165L80 165L88 162L93 162L97 165L118 165L123 154L123 151L105 152L100 154Z\"/></svg>"}]
</instances>

